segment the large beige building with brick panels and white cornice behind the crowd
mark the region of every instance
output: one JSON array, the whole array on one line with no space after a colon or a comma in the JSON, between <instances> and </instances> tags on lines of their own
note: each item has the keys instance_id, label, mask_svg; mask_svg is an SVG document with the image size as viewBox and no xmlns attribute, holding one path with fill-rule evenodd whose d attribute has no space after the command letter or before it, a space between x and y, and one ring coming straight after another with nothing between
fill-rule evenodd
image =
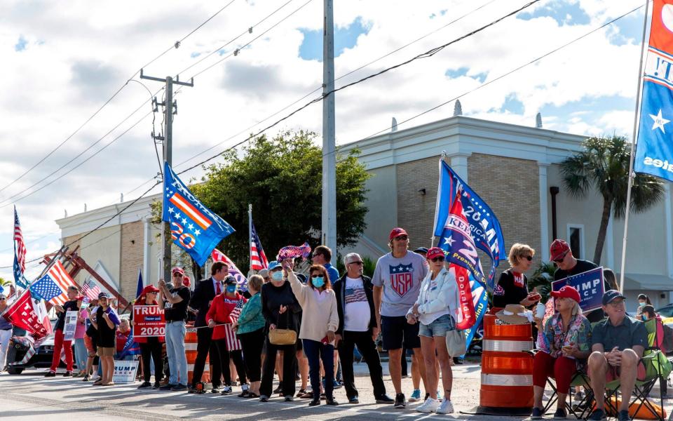
<instances>
[{"instance_id":1,"label":"large beige building with brick panels and white cornice behind the crowd","mask_svg":"<svg viewBox=\"0 0 673 421\"><path fill-rule=\"evenodd\" d=\"M548 262L555 230L550 188L557 187L557 237L571 243L576 257L591 260L601 196L597 192L581 200L569 196L558 165L578 152L583 140L583 136L544 128L453 116L345 145L342 152L360 149L360 161L372 178L367 181L367 229L354 248L339 250L339 254L355 250L379 258L388 253L390 229L398 226L407 229L413 247L429 246L439 159L445 152L451 168L498 216L506 250L515 242L528 243L536 249L536 263ZM630 309L637 293L648 293L658 307L669 302L669 290L673 290L672 198L669 185L665 188L664 201L646 213L632 215L630 221L625 279ZM127 298L135 294L138 268L146 282L158 279L158 231L149 222L149 203L158 199L140 199L79 243L89 265L121 288ZM86 234L123 206L118 203L57 220L64 242ZM611 220L601 258L601 265L615 272L620 267L623 227L623 220ZM482 255L482 265L488 270L489 262L483 259ZM505 261L499 269L507 267Z\"/></svg>"}]
</instances>

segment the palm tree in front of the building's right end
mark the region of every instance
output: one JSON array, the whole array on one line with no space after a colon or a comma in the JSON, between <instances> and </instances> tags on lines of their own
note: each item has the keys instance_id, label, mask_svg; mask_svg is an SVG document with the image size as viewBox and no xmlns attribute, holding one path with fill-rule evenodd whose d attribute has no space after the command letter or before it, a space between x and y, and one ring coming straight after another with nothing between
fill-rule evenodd
<instances>
[{"instance_id":1,"label":"palm tree in front of the building's right end","mask_svg":"<svg viewBox=\"0 0 673 421\"><path fill-rule=\"evenodd\" d=\"M623 136L589 138L584 150L561 163L563 182L570 194L583 198L592 188L603 196L603 213L598 230L594 263L601 262L610 213L623 218L626 211L630 144ZM651 175L636 174L631 190L631 210L644 212L664 195L661 182Z\"/></svg>"}]
</instances>

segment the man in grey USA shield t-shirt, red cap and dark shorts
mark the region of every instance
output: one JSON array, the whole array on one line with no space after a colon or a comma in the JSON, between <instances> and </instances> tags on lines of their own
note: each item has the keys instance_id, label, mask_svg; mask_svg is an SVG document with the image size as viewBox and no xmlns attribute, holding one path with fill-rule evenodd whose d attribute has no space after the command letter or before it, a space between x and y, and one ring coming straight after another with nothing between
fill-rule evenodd
<instances>
[{"instance_id":1,"label":"man in grey USA shield t-shirt, red cap and dark shorts","mask_svg":"<svg viewBox=\"0 0 673 421\"><path fill-rule=\"evenodd\" d=\"M409 247L409 236L402 228L395 228L388 236L390 253L376 262L374 284L374 311L376 323L383 335L383 348L388 350L390 379L395 387L395 408L405 408L402 393L402 344L414 350L414 364L421 371L423 386L426 384L425 363L421 354L419 323L407 323L407 312L419 298L421 281L428 273L424 258ZM427 388L426 388L427 389Z\"/></svg>"}]
</instances>

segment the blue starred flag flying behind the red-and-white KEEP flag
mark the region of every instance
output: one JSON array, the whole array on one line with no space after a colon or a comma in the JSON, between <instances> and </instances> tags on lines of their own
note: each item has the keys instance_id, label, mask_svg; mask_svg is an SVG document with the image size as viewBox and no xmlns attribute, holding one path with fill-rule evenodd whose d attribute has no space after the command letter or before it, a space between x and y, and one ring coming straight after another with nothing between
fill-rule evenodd
<instances>
[{"instance_id":1,"label":"blue starred flag flying behind the red-and-white KEEP flag","mask_svg":"<svg viewBox=\"0 0 673 421\"><path fill-rule=\"evenodd\" d=\"M468 219L475 246L491 258L491 272L487 279L487 285L492 290L496 267L500 264L500 260L507 259L505 238L500 222L487 203L473 189L470 189L470 186L461 180L442 159L440 159L440 185L437 189L434 234L435 236L442 236L444 226L449 218L449 210L451 210L458 189L463 190L461 203L463 203L463 210L465 217Z\"/></svg>"}]
</instances>

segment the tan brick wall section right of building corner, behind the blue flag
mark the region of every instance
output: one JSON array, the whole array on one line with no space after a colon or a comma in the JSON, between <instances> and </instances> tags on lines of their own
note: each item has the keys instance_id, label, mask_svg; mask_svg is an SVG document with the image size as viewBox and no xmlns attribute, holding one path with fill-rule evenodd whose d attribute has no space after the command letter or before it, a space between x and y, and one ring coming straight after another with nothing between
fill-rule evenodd
<instances>
[{"instance_id":1,"label":"tan brick wall section right of building corner, behind the blue flag","mask_svg":"<svg viewBox=\"0 0 673 421\"><path fill-rule=\"evenodd\" d=\"M468 158L468 184L498 216L507 253L514 243L526 243L540 250L538 183L536 161L486 154L472 154ZM480 260L484 272L488 272L490 260L484 253L480 253ZM539 258L533 261L528 275L539 263ZM501 262L498 272L508 267L508 262Z\"/></svg>"}]
</instances>

